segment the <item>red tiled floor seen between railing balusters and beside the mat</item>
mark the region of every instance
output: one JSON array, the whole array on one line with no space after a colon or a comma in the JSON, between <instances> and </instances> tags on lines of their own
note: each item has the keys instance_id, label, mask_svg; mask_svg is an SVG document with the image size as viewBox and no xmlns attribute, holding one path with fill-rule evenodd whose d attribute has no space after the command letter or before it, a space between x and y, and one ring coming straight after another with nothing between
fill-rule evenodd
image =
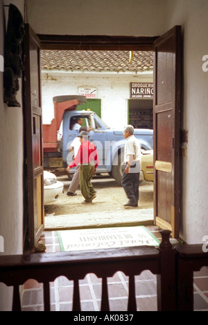
<instances>
[{"instance_id":1,"label":"red tiled floor seen between railing balusters and beside the mat","mask_svg":"<svg viewBox=\"0 0 208 325\"><path fill-rule=\"evenodd\" d=\"M155 226L148 227L155 237L160 239L160 233ZM60 251L60 245L55 231L45 232L41 238L46 244L46 251ZM208 268L202 268L194 274L194 308L208 311ZM110 310L126 311L128 306L128 276L117 272L107 279ZM95 274L79 281L81 309L83 311L98 311L101 308L101 279ZM135 276L137 310L157 310L157 278L150 271ZM73 281L64 276L50 283L51 310L67 311L72 309ZM29 280L21 292L21 306L24 311L40 311L43 307L42 284Z\"/></svg>"}]
</instances>

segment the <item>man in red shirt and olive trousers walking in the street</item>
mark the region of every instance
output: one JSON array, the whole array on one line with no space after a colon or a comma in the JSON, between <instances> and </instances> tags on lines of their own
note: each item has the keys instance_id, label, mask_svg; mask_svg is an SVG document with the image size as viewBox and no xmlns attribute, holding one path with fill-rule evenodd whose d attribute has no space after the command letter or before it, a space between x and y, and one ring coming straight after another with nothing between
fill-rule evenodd
<instances>
[{"instance_id":1,"label":"man in red shirt and olive trousers walking in the street","mask_svg":"<svg viewBox=\"0 0 208 325\"><path fill-rule=\"evenodd\" d=\"M80 190L85 198L83 203L92 203L92 200L96 197L96 191L91 181L100 162L96 147L92 142L88 141L88 132L82 131L78 137L81 142L80 149L67 169L69 170L80 164Z\"/></svg>"}]
</instances>

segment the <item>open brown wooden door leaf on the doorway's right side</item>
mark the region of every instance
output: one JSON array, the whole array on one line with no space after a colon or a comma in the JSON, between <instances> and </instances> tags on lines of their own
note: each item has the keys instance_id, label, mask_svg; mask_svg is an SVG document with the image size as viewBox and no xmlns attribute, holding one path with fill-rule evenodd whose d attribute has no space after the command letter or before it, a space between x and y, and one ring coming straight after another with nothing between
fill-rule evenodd
<instances>
[{"instance_id":1,"label":"open brown wooden door leaf on the doorway's right side","mask_svg":"<svg viewBox=\"0 0 208 325\"><path fill-rule=\"evenodd\" d=\"M179 235L181 26L154 42L155 224Z\"/></svg>"}]
</instances>

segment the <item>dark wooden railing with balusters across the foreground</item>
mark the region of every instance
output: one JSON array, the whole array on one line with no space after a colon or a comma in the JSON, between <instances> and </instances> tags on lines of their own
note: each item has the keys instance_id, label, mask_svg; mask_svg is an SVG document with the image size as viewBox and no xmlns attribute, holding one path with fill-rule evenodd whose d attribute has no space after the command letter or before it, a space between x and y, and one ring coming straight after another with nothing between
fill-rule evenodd
<instances>
[{"instance_id":1,"label":"dark wooden railing with balusters across the foreground","mask_svg":"<svg viewBox=\"0 0 208 325\"><path fill-rule=\"evenodd\" d=\"M14 287L13 311L21 310L20 285L24 285L31 278L43 283L44 310L49 311L49 283L58 276L66 276L73 280L72 310L80 311L79 280L94 273L102 278L101 311L109 311L107 278L121 271L129 277L128 311L136 311L135 276L148 269L157 274L158 310L193 310L193 271L208 265L208 253L203 253L201 246L196 249L196 245L183 245L173 249L169 241L170 231L161 233L162 243L159 249L123 247L71 253L0 256L0 282Z\"/></svg>"}]
</instances>

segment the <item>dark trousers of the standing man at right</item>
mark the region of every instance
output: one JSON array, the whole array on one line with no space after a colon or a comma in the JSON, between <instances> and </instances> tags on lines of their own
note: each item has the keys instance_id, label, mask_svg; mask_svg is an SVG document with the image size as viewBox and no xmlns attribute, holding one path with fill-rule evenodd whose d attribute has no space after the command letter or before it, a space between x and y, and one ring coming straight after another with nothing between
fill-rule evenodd
<instances>
[{"instance_id":1,"label":"dark trousers of the standing man at right","mask_svg":"<svg viewBox=\"0 0 208 325\"><path fill-rule=\"evenodd\" d=\"M139 201L139 174L140 172L125 174L125 170L123 170L121 184L130 203L137 203Z\"/></svg>"}]
</instances>

